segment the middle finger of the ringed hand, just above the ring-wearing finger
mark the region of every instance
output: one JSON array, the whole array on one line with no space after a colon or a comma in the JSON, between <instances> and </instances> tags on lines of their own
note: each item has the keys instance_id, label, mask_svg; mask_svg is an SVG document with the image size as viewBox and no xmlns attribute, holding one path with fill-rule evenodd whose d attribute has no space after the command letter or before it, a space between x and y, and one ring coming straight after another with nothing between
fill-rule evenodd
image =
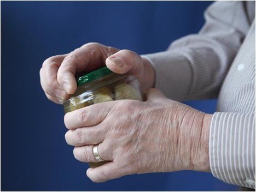
<instances>
[{"instance_id":1,"label":"middle finger of the ringed hand, just above the ring-wearing finger","mask_svg":"<svg viewBox=\"0 0 256 192\"><path fill-rule=\"evenodd\" d=\"M78 128L75 130L69 130L65 134L65 139L68 145L72 146L85 146L96 145L104 140L104 129L96 125L88 128Z\"/></svg>"}]
</instances>

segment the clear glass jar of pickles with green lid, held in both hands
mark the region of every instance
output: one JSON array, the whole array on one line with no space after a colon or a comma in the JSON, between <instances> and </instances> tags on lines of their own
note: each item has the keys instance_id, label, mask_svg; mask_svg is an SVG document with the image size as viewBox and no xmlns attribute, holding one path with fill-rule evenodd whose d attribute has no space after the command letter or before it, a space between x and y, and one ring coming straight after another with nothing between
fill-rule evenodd
<instances>
[{"instance_id":1,"label":"clear glass jar of pickles with green lid, held in both hands","mask_svg":"<svg viewBox=\"0 0 256 192\"><path fill-rule=\"evenodd\" d=\"M77 91L63 103L65 113L113 100L144 100L139 82L134 76L115 74L107 67L79 77L77 85ZM97 167L104 163L106 161L89 163L89 165Z\"/></svg>"}]
</instances>

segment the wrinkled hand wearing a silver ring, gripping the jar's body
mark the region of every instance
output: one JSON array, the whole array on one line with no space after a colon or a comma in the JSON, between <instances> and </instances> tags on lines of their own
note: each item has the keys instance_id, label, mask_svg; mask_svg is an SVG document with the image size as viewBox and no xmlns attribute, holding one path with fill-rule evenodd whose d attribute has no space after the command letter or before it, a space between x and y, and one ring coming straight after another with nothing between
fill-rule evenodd
<instances>
[{"instance_id":1,"label":"wrinkled hand wearing a silver ring, gripping the jar's body","mask_svg":"<svg viewBox=\"0 0 256 192\"><path fill-rule=\"evenodd\" d=\"M178 170L210 171L211 115L149 89L147 101L119 100L68 112L65 135L74 157L97 162L94 145L107 164L87 170L94 182L125 175Z\"/></svg>"}]
</instances>

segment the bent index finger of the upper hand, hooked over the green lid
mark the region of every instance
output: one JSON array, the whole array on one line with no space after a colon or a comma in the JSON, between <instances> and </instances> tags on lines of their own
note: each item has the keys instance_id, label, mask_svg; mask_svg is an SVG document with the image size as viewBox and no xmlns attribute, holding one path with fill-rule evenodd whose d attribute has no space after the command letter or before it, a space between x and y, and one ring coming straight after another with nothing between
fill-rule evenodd
<instances>
[{"instance_id":1,"label":"bent index finger of the upper hand, hooked over the green lid","mask_svg":"<svg viewBox=\"0 0 256 192\"><path fill-rule=\"evenodd\" d=\"M104 66L106 58L117 51L113 47L97 43L85 44L65 57L57 74L58 82L68 94L73 94L77 89L76 73Z\"/></svg>"}]
</instances>

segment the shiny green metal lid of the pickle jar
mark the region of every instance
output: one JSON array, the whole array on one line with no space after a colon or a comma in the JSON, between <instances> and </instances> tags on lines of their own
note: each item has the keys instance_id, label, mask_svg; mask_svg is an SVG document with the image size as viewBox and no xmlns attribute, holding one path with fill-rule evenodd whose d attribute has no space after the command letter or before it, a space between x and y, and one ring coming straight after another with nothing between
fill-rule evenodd
<instances>
[{"instance_id":1,"label":"shiny green metal lid of the pickle jar","mask_svg":"<svg viewBox=\"0 0 256 192\"><path fill-rule=\"evenodd\" d=\"M88 74L85 74L78 78L77 80L77 86L84 85L85 83L89 83L91 81L94 81L96 79L99 79L100 77L103 77L105 75L112 74L113 72L110 71L107 67L102 67L100 69L97 69L95 71L91 71Z\"/></svg>"}]
</instances>

